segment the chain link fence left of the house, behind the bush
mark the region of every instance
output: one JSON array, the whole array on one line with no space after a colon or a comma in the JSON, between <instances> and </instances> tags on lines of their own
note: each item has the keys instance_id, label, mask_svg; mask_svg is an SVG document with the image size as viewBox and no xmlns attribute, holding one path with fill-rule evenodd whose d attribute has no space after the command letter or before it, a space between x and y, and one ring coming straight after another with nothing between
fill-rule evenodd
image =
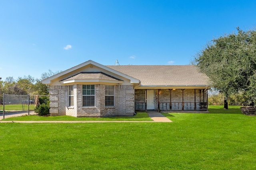
<instances>
[{"instance_id":1,"label":"chain link fence left of the house, behind the bush","mask_svg":"<svg viewBox=\"0 0 256 170\"><path fill-rule=\"evenodd\" d=\"M35 107L43 103L49 104L50 96L3 94L3 111L0 114L2 114L3 119L14 114L36 114L34 112Z\"/></svg>"}]
</instances>

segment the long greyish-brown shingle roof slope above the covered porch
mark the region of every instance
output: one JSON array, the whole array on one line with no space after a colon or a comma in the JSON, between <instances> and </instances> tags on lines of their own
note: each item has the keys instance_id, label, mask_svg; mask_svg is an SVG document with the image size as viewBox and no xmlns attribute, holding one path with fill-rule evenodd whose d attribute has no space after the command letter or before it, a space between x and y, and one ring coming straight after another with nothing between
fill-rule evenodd
<instances>
[{"instance_id":1,"label":"long greyish-brown shingle roof slope above the covered porch","mask_svg":"<svg viewBox=\"0 0 256 170\"><path fill-rule=\"evenodd\" d=\"M141 81L142 86L208 85L209 78L195 65L107 66Z\"/></svg>"}]
</instances>

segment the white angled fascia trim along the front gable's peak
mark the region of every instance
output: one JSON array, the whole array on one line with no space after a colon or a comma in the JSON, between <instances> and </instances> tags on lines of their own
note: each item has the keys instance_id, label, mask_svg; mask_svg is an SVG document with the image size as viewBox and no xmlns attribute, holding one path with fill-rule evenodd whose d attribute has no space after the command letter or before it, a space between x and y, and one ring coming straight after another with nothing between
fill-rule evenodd
<instances>
[{"instance_id":1,"label":"white angled fascia trim along the front gable's peak","mask_svg":"<svg viewBox=\"0 0 256 170\"><path fill-rule=\"evenodd\" d=\"M72 71L74 71L74 70L77 70L78 68L81 68L81 67L86 66L86 65L88 65L88 64L93 64L93 65L95 65L95 66L98 66L98 67L100 67L100 68L103 68L104 70L108 70L108 71L110 71L110 72L113 72L114 74L117 74L117 75L120 75L120 76L122 76L122 77L124 77L124 78L127 78L127 79L130 80L131 83L139 83L139 81L140 81L140 80L138 80L138 79L136 79L136 78L133 78L133 77L131 77L131 76L128 76L128 75L126 75L126 74L124 74L124 73L122 73L122 72L118 72L118 71L116 71L116 70L113 70L112 68L109 68L109 67L104 66L104 65L102 65L102 64L96 63L96 62L94 62L94 61L92 61L92 60L89 60L89 61L86 61L86 62L84 62L84 63L82 63L82 64L79 64L79 65L77 65L77 66L74 66L74 67L72 67L72 68L70 68L70 69L68 69L68 70L65 70L65 71L62 71L62 72L60 72L60 73L58 73L58 74L55 74L54 76L48 77L48 78L42 80L42 83L43 83L43 84L50 84L51 80L53 80L53 79L55 79L55 78L58 78L59 76L63 76L64 74L67 74L67 73L72 72Z\"/></svg>"}]
</instances>

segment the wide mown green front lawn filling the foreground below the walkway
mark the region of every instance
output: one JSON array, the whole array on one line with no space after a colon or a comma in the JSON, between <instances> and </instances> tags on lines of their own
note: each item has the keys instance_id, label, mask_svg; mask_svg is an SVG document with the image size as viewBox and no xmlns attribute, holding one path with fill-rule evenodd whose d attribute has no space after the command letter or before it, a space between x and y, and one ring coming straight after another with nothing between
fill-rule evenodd
<instances>
[{"instance_id":1,"label":"wide mown green front lawn filling the foreground below the walkway","mask_svg":"<svg viewBox=\"0 0 256 170\"><path fill-rule=\"evenodd\" d=\"M172 123L0 123L0 167L256 169L256 116L210 109L164 113Z\"/></svg>"}]
</instances>

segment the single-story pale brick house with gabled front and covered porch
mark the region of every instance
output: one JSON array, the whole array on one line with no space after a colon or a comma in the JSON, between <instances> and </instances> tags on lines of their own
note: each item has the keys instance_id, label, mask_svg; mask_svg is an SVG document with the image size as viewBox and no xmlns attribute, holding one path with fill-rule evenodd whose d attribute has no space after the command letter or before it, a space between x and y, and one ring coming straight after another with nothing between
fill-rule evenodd
<instances>
[{"instance_id":1,"label":"single-story pale brick house with gabled front and covered porch","mask_svg":"<svg viewBox=\"0 0 256 170\"><path fill-rule=\"evenodd\" d=\"M194 65L104 66L94 61L42 80L50 114L132 116L136 111L208 111L208 77Z\"/></svg>"}]
</instances>

